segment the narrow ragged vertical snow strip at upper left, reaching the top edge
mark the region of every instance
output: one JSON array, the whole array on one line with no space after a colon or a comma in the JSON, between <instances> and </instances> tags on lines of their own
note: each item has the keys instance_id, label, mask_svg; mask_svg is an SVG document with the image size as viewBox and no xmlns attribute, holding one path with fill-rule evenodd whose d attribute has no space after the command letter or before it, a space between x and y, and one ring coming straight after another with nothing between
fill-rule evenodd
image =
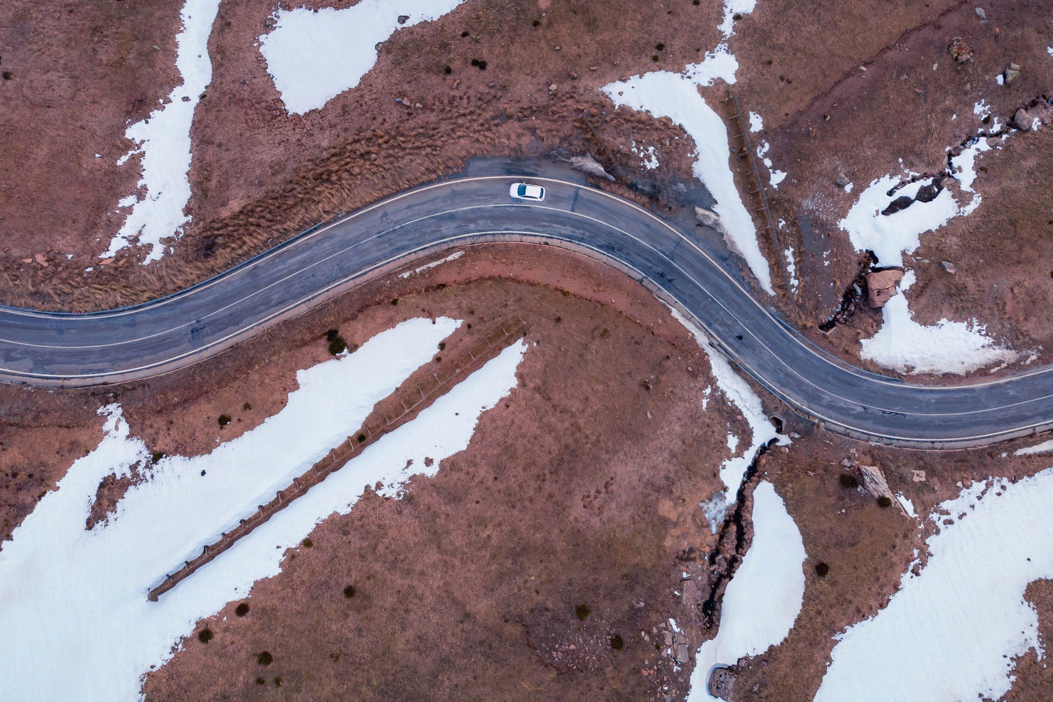
<instances>
[{"instance_id":1,"label":"narrow ragged vertical snow strip at upper left, reaching the top edge","mask_svg":"<svg viewBox=\"0 0 1053 702\"><path fill-rule=\"evenodd\" d=\"M183 214L191 201L191 124L204 88L212 82L208 35L219 11L219 0L186 0L180 13L182 32L176 35L176 67L183 82L173 88L167 102L141 122L128 126L124 136L136 147L122 156L123 165L134 155L142 155L142 198L133 194L118 207L132 207L124 224L99 258L111 258L133 240L148 244L143 263L164 256L164 239L178 237L191 218Z\"/></svg>"}]
</instances>

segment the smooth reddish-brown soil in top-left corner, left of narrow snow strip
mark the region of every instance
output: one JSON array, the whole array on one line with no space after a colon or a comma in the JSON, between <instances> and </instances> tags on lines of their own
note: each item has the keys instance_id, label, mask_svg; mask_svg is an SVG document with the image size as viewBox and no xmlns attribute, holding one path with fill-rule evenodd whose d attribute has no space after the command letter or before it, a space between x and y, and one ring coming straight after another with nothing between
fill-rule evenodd
<instances>
[{"instance_id":1,"label":"smooth reddish-brown soil in top-left corner, left of narrow snow strip","mask_svg":"<svg viewBox=\"0 0 1053 702\"><path fill-rule=\"evenodd\" d=\"M180 80L181 7L180 0L0 6L0 255L8 270L49 252L53 273L72 275L108 245L121 224L117 201L139 181L138 157L117 165L133 147L124 129Z\"/></svg>"}]
</instances>

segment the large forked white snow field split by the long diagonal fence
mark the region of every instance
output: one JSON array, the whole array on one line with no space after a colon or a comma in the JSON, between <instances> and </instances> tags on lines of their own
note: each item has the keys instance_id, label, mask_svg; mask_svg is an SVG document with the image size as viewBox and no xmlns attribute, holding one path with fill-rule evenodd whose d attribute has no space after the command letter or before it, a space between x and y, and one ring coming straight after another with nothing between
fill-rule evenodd
<instances>
[{"instance_id":1,"label":"large forked white snow field split by the long diagonal fence","mask_svg":"<svg viewBox=\"0 0 1053 702\"><path fill-rule=\"evenodd\" d=\"M85 530L99 481L150 461L118 405L103 407L104 437L77 460L0 551L0 660L9 702L124 702L142 676L173 656L195 622L250 595L281 570L284 551L327 516L346 514L367 485L396 496L411 475L434 475L462 450L482 412L515 387L522 342L380 439L306 495L201 567L159 602L146 593L345 441L460 324L413 319L353 354L297 374L277 415L205 456L162 459L117 512ZM434 463L425 467L424 459Z\"/></svg>"}]
</instances>

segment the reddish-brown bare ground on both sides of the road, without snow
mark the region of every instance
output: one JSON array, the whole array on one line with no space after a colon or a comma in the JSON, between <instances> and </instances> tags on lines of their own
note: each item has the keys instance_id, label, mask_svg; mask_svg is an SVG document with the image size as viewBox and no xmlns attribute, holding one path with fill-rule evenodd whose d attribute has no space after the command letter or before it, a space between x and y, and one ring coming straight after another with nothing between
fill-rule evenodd
<instances>
[{"instance_id":1,"label":"reddish-brown bare ground on both sides of the road, without snow","mask_svg":"<svg viewBox=\"0 0 1053 702\"><path fill-rule=\"evenodd\" d=\"M193 223L158 263L138 265L142 252L131 248L100 265L120 226L116 203L139 178L134 159L115 165L131 147L124 129L179 80L180 7L0 7L0 302L85 310L150 299L476 156L591 153L618 178L597 185L671 206L670 184L691 178L690 139L668 120L613 109L598 88L698 60L720 41L722 13L713 0L468 0L393 35L356 89L289 116L254 47L276 5L224 2L210 40L213 82L192 132ZM731 88L764 118L754 145L769 141L774 167L789 174L768 195L787 222L780 238L797 252L801 286L780 290L775 304L817 343L871 369L879 368L859 361L858 339L876 332L879 312L860 308L831 334L818 330L860 269L838 220L875 178L942 172L948 149L989 128L973 115L980 99L1008 123L1018 107L1053 97L1047 4L995 0L982 9L980 18L975 4L946 0L880 8L821 0L799 12L761 0L729 42L740 65ZM955 37L972 61L951 58ZM1019 78L997 85L1010 63L1022 66ZM728 86L702 93L731 117ZM984 154L980 207L922 235L907 259L918 277L908 294L917 321L975 317L999 342L1041 347L1038 362L1050 361L1051 139L1049 127L1017 132ZM661 165L642 169L631 140L655 146ZM733 167L740 192L754 189L744 158ZM835 184L839 174L854 183L851 195ZM120 402L152 450L193 456L278 412L296 370L330 357L329 328L360 344L415 316L484 328L514 314L540 342L465 452L414 480L401 500L371 493L322 522L281 575L198 623L146 679L147 699L682 699L694 650L715 633L720 587L749 545L750 490L764 478L801 530L807 588L790 637L736 666L733 699L810 700L832 637L885 605L925 538L894 508L841 487L845 459L881 466L920 515L959 482L1048 467L1041 457L999 458L1015 445L920 453L840 439L762 395L798 437L758 461L739 502L747 524L718 539L697 504L718 488L728 430L746 442L749 429L722 402L701 410L713 381L694 340L643 288L599 264L524 245L465 252L404 280L369 283L190 369L81 390L0 386L9 539L98 443L102 404ZM773 266L776 256L769 252ZM223 414L233 421L221 427ZM914 469L927 480L912 481ZM92 523L127 482L100 485ZM823 577L820 562L830 567ZM693 584L681 582L684 573ZM1049 641L1053 586L1036 581L1027 597ZM214 634L207 644L197 638L203 628ZM681 645L687 658L662 654ZM264 650L267 665L258 662ZM1050 675L1025 656L1006 699L1047 699Z\"/></svg>"}]
</instances>

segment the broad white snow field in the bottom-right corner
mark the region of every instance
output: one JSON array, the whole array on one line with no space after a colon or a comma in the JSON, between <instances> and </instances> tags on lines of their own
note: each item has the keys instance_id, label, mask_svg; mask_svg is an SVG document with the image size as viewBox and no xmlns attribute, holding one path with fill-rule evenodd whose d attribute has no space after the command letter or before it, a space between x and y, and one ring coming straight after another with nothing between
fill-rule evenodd
<instances>
[{"instance_id":1,"label":"broad white snow field in the bottom-right corner","mask_svg":"<svg viewBox=\"0 0 1053 702\"><path fill-rule=\"evenodd\" d=\"M900 578L888 606L838 635L815 702L996 700L1015 657L1042 657L1024 593L1053 578L1053 468L1015 484L976 482L930 519L938 531L928 563Z\"/></svg>"}]
</instances>

